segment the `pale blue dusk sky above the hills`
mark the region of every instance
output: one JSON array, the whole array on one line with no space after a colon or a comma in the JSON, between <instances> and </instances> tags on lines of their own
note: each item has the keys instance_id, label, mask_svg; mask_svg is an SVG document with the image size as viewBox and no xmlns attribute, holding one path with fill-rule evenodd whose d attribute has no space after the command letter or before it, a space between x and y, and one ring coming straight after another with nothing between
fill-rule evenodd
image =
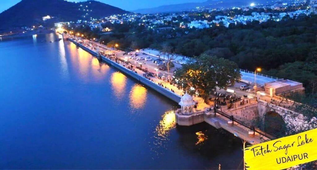
<instances>
[{"instance_id":1,"label":"pale blue dusk sky above the hills","mask_svg":"<svg viewBox=\"0 0 317 170\"><path fill-rule=\"evenodd\" d=\"M0 2L0 12L10 8L21 0L9 0ZM73 2L80 2L85 0L73 0ZM188 2L205 2L206 0L98 0L109 5L113 5L124 10L137 10L143 8L153 8L166 4L188 3Z\"/></svg>"}]
</instances>

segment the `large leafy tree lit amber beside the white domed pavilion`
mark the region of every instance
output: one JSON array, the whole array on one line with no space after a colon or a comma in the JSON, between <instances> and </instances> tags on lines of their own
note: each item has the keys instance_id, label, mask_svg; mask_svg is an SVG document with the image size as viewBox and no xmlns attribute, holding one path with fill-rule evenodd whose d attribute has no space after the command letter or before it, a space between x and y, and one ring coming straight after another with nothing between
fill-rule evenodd
<instances>
[{"instance_id":1,"label":"large leafy tree lit amber beside the white domed pavilion","mask_svg":"<svg viewBox=\"0 0 317 170\"><path fill-rule=\"evenodd\" d=\"M193 95L196 92L206 103L216 87L226 89L240 80L241 75L236 63L223 58L202 54L197 60L184 64L174 74L175 82Z\"/></svg>"}]
</instances>

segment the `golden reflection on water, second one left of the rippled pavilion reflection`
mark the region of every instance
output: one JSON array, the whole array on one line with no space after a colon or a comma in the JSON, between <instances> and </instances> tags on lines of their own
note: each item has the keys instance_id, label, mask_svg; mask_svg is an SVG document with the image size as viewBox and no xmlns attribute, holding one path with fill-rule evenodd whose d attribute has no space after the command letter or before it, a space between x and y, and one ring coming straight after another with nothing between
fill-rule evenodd
<instances>
[{"instance_id":1,"label":"golden reflection on water, second one left of the rippled pavilion reflection","mask_svg":"<svg viewBox=\"0 0 317 170\"><path fill-rule=\"evenodd\" d=\"M126 87L126 76L120 72L114 72L111 75L111 85L114 90L114 94L121 99L124 96Z\"/></svg>"}]
</instances>

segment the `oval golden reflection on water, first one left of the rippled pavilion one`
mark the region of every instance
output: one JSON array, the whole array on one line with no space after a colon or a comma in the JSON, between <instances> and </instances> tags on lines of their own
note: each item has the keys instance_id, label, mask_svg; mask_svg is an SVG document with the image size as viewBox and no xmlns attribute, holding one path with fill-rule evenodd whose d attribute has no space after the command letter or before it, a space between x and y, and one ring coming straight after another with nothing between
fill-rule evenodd
<instances>
[{"instance_id":1,"label":"oval golden reflection on water, first one left of the rippled pavilion one","mask_svg":"<svg viewBox=\"0 0 317 170\"><path fill-rule=\"evenodd\" d=\"M130 91L130 105L133 108L140 109L145 105L147 90L145 87L135 84Z\"/></svg>"}]
</instances>

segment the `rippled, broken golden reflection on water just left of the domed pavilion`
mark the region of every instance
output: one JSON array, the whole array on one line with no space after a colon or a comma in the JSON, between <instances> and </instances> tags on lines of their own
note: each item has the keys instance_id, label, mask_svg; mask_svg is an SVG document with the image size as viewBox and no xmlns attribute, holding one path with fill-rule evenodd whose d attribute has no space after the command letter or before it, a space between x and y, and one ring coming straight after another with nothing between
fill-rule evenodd
<instances>
[{"instance_id":1,"label":"rippled, broken golden reflection on water just left of the domed pavilion","mask_svg":"<svg viewBox=\"0 0 317 170\"><path fill-rule=\"evenodd\" d=\"M175 127L175 114L173 110L170 110L162 115L162 120L159 121L159 125L156 127L156 132L159 136L166 137L166 134Z\"/></svg>"}]
</instances>

